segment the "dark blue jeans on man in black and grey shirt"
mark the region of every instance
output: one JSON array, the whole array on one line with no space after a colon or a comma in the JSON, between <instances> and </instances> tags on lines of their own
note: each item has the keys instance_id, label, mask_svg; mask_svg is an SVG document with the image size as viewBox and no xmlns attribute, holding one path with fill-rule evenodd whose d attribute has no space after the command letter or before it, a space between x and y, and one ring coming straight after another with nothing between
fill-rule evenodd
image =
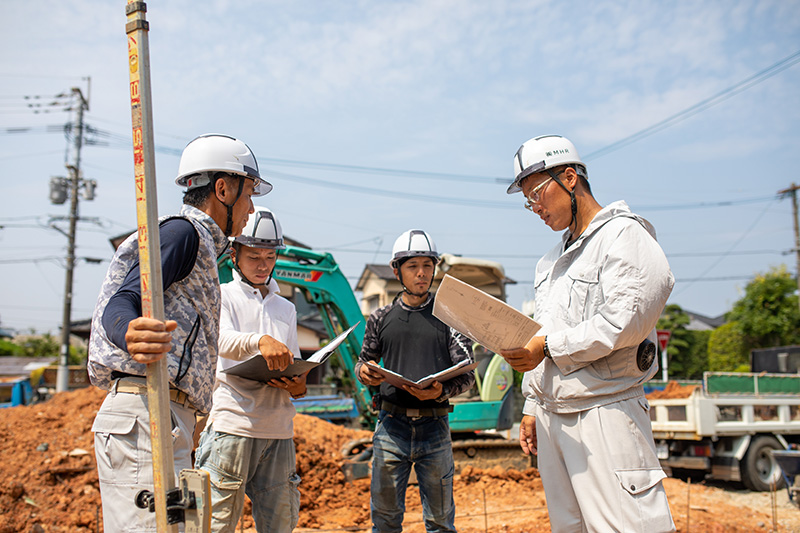
<instances>
[{"instance_id":1,"label":"dark blue jeans on man in black and grey shirt","mask_svg":"<svg viewBox=\"0 0 800 533\"><path fill-rule=\"evenodd\" d=\"M381 411L372 437L372 531L403 530L411 465L417 474L425 530L455 532L453 445L445 416L409 418Z\"/></svg>"}]
</instances>

